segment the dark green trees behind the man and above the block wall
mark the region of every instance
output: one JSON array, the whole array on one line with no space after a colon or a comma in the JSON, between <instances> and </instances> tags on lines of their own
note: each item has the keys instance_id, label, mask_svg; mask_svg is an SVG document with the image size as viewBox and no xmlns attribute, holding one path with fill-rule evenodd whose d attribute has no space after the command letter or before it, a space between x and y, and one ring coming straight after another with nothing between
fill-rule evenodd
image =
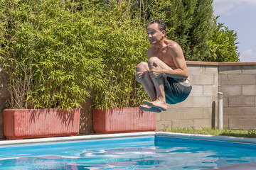
<instances>
[{"instance_id":1,"label":"dark green trees behind the man and above the block wall","mask_svg":"<svg viewBox=\"0 0 256 170\"><path fill-rule=\"evenodd\" d=\"M138 3L134 10L140 11L143 23L155 18L165 21L166 37L181 45L186 60L239 61L235 43L237 34L223 23L216 23L213 0L149 0Z\"/></svg>"}]
</instances>

